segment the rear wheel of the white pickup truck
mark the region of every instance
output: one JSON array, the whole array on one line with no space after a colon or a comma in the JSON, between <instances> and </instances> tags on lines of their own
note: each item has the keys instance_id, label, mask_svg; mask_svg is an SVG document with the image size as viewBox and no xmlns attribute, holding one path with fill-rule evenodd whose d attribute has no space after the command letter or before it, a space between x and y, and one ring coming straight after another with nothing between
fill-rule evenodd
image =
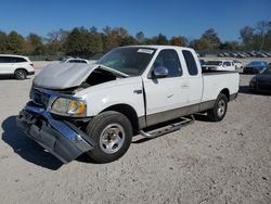
<instances>
[{"instance_id":1,"label":"rear wheel of the white pickup truck","mask_svg":"<svg viewBox=\"0 0 271 204\"><path fill-rule=\"evenodd\" d=\"M207 112L211 122L221 122L228 110L228 98L223 93L219 93L215 106Z\"/></svg>"}]
</instances>

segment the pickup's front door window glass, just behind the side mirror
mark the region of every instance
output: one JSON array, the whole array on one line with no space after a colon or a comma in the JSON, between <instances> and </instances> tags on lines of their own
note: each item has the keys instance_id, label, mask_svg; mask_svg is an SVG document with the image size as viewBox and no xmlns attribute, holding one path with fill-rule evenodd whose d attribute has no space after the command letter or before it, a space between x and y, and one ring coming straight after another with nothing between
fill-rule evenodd
<instances>
[{"instance_id":1,"label":"pickup's front door window glass, just behind the side mirror","mask_svg":"<svg viewBox=\"0 0 271 204\"><path fill-rule=\"evenodd\" d=\"M168 69L168 77L182 76L182 67L175 50L162 50L154 62L154 68L164 66Z\"/></svg>"}]
</instances>

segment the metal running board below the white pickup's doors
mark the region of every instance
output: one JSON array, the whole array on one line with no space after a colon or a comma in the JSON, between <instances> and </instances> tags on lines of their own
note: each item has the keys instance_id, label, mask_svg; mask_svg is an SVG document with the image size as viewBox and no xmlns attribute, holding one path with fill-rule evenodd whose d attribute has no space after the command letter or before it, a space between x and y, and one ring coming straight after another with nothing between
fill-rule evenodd
<instances>
[{"instance_id":1,"label":"metal running board below the white pickup's doors","mask_svg":"<svg viewBox=\"0 0 271 204\"><path fill-rule=\"evenodd\" d=\"M191 125L195 122L195 117L193 115L190 115L189 117L181 117L181 119L183 119L182 122L178 122L178 123L173 123L170 125L167 125L165 127L160 127L151 131L144 131L144 130L140 130L140 135L142 135L145 138L156 138L159 136L163 136L165 133L169 133L176 130L181 129L184 126Z\"/></svg>"}]
</instances>

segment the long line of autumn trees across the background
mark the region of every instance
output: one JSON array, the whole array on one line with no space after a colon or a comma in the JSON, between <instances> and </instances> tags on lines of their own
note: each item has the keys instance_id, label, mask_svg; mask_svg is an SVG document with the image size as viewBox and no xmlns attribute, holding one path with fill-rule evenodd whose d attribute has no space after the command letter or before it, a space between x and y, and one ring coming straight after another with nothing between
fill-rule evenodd
<instances>
[{"instance_id":1,"label":"long line of autumn trees across the background","mask_svg":"<svg viewBox=\"0 0 271 204\"><path fill-rule=\"evenodd\" d=\"M23 37L16 31L0 30L0 53L24 55L72 55L92 58L119 46L171 44L192 47L199 51L212 50L270 50L271 22L261 21L255 27L245 26L240 30L240 40L222 42L214 28L204 31L199 39L189 40L184 36L168 39L159 34L146 38L143 31L132 36L124 27L108 27L99 31L95 27L75 27L72 30L59 29L47 37L29 34Z\"/></svg>"}]
</instances>

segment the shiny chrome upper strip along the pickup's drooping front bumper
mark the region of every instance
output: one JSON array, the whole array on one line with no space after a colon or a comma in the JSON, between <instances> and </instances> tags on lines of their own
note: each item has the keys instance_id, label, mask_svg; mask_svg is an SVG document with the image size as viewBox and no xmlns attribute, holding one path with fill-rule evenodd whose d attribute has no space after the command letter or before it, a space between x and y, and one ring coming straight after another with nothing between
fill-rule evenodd
<instances>
[{"instance_id":1,"label":"shiny chrome upper strip along the pickup's drooping front bumper","mask_svg":"<svg viewBox=\"0 0 271 204\"><path fill-rule=\"evenodd\" d=\"M72 129L69 126L67 126L65 123L52 118L51 114L48 113L44 109L26 105L24 111L30 112L30 113L36 113L38 115L43 116L47 119L48 126L50 128L53 128L59 133L61 133L63 137L68 139L80 151L87 152L90 149L92 149L92 145L89 142L87 142L85 139L82 139L82 137L78 132L76 132L74 129Z\"/></svg>"}]
</instances>

